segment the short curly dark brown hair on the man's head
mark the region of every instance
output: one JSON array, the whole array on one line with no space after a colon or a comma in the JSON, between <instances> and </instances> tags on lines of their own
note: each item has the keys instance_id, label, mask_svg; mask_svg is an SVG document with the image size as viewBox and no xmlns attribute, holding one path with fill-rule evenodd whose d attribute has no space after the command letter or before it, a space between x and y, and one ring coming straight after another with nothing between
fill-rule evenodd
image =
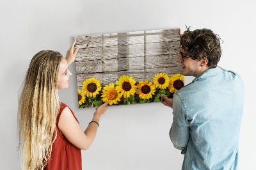
<instances>
[{"instance_id":1,"label":"short curly dark brown hair on the man's head","mask_svg":"<svg viewBox=\"0 0 256 170\"><path fill-rule=\"evenodd\" d=\"M221 57L220 40L221 38L211 29L190 31L188 27L180 37L180 45L186 54L193 56L192 59L207 59L207 66L215 68Z\"/></svg>"}]
</instances>

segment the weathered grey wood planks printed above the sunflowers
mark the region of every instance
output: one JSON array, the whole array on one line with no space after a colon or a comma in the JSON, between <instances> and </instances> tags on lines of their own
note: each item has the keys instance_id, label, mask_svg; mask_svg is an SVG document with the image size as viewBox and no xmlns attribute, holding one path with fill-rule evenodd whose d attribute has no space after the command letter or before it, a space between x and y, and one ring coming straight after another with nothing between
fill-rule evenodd
<instances>
[{"instance_id":1,"label":"weathered grey wood planks printed above the sunflowers","mask_svg":"<svg viewBox=\"0 0 256 170\"><path fill-rule=\"evenodd\" d=\"M153 81L157 73L170 77L181 73L179 29L136 31L92 36L74 36L77 88L88 78L97 78L105 86L116 84L122 75L137 82Z\"/></svg>"}]
</instances>

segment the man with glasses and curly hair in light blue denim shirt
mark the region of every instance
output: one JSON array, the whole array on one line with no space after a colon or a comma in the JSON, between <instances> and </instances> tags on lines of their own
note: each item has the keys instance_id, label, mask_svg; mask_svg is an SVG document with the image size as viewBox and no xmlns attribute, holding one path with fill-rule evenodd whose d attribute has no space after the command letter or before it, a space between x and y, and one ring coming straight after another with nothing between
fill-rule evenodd
<instances>
[{"instance_id":1,"label":"man with glasses and curly hair in light blue denim shirt","mask_svg":"<svg viewBox=\"0 0 256 170\"><path fill-rule=\"evenodd\" d=\"M185 154L182 169L237 169L244 85L217 66L220 57L220 38L210 29L180 34L182 74L196 78L173 99L161 97L173 108L170 138Z\"/></svg>"}]
</instances>

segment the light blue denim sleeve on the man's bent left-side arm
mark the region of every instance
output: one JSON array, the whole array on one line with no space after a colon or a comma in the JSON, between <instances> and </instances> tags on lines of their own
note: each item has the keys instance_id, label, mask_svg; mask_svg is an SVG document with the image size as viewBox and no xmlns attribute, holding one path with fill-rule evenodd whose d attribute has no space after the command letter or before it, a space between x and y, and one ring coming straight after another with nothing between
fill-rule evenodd
<instances>
[{"instance_id":1,"label":"light blue denim sleeve on the man's bent left-side arm","mask_svg":"<svg viewBox=\"0 0 256 170\"><path fill-rule=\"evenodd\" d=\"M186 120L186 109L184 109L179 95L175 94L173 96L173 122L170 138L173 146L178 150L182 150L182 154L186 153L189 136L189 122Z\"/></svg>"}]
</instances>

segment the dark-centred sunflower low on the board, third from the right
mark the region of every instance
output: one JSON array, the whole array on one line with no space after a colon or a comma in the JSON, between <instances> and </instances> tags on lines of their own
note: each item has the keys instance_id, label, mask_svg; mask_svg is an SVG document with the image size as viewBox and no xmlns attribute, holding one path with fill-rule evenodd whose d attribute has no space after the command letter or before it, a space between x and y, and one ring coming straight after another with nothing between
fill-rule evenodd
<instances>
[{"instance_id":1,"label":"dark-centred sunflower low on the board, third from the right","mask_svg":"<svg viewBox=\"0 0 256 170\"><path fill-rule=\"evenodd\" d=\"M138 84L138 89L137 89L137 95L139 95L140 98L143 99L149 99L152 98L152 95L154 95L156 91L155 85L152 84L152 82L148 81L141 81Z\"/></svg>"}]
</instances>

